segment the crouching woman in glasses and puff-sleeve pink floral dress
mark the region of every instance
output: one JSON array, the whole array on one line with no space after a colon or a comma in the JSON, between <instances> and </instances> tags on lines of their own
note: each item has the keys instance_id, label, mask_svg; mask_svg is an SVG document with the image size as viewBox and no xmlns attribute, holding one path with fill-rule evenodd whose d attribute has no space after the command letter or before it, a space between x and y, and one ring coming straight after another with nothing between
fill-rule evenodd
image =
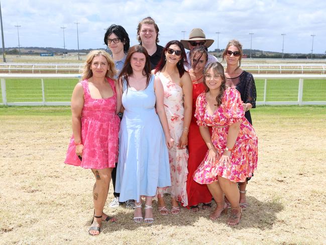
<instances>
[{"instance_id":1,"label":"crouching woman in glasses and puff-sleeve pink floral dress","mask_svg":"<svg viewBox=\"0 0 326 245\"><path fill-rule=\"evenodd\" d=\"M225 193L231 203L228 224L236 225L242 214L237 182L246 181L257 168L257 135L245 118L240 93L226 88L223 66L219 62L208 64L204 77L206 92L197 98L195 117L208 151L193 179L207 184L216 202L209 217L216 219L227 212ZM211 136L207 126L212 127Z\"/></svg>"}]
</instances>

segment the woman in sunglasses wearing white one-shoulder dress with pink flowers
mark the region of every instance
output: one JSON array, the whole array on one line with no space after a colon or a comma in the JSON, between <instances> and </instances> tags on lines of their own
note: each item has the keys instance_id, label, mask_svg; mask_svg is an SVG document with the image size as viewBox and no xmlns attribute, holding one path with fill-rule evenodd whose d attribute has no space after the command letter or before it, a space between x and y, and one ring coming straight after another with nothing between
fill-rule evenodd
<instances>
[{"instance_id":1,"label":"woman in sunglasses wearing white one-shoulder dress with pink flowers","mask_svg":"<svg viewBox=\"0 0 326 245\"><path fill-rule=\"evenodd\" d=\"M155 74L160 77L164 88L164 108L171 136L177 144L169 149L171 187L158 188L158 210L162 215L169 213L165 206L164 193L171 195L171 213L178 214L180 207L188 205L186 182L188 131L192 111L192 83L184 69L186 54L181 42L174 40L166 44Z\"/></svg>"}]
</instances>

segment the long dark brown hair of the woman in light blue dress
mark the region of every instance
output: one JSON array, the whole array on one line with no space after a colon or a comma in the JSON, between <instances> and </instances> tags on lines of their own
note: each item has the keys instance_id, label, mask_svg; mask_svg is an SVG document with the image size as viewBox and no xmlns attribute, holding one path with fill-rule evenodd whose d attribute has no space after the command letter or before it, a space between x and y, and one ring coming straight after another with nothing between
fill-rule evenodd
<instances>
[{"instance_id":1,"label":"long dark brown hair of the woman in light blue dress","mask_svg":"<svg viewBox=\"0 0 326 245\"><path fill-rule=\"evenodd\" d=\"M120 84L120 86L123 86L123 84L122 84L123 79L126 79L127 89L129 87L129 76L133 73L133 68L131 67L130 60L131 60L131 56L134 53L143 53L145 55L146 62L145 62L145 66L143 69L143 75L146 75L146 77L147 77L146 78L146 88L147 88L147 86L149 84L149 80L151 78L151 63L149 60L149 55L147 53L147 50L142 45L135 45L129 49L124 67L122 68L120 75L118 77L119 84Z\"/></svg>"}]
</instances>

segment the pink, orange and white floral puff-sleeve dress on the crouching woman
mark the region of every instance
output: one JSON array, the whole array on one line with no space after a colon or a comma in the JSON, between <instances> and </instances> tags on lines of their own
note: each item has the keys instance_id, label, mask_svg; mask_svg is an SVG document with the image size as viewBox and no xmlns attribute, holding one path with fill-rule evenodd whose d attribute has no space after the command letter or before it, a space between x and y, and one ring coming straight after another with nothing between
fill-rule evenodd
<instances>
[{"instance_id":1,"label":"pink, orange and white floral puff-sleeve dress on the crouching woman","mask_svg":"<svg viewBox=\"0 0 326 245\"><path fill-rule=\"evenodd\" d=\"M222 105L213 115L209 115L206 106L206 95L202 93L196 102L195 117L198 126L212 126L211 140L218 151L218 159L207 161L207 150L205 158L193 175L194 181L210 184L218 181L218 176L222 176L232 182L245 182L257 168L258 139L252 125L244 117L240 93L234 88L226 89ZM231 153L231 164L219 164L227 144L229 126L236 122L241 122L241 125Z\"/></svg>"}]
</instances>

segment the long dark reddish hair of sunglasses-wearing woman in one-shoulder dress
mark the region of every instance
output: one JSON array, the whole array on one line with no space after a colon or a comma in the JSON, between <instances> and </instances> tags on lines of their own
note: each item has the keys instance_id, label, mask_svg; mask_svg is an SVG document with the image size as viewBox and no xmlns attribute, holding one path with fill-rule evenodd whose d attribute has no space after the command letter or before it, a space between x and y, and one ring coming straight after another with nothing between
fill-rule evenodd
<instances>
[{"instance_id":1,"label":"long dark reddish hair of sunglasses-wearing woman in one-shoulder dress","mask_svg":"<svg viewBox=\"0 0 326 245\"><path fill-rule=\"evenodd\" d=\"M188 66L188 61L187 61L186 52L184 51L183 44L181 42L179 42L178 40L170 41L165 45L165 47L162 51L161 59L158 62L158 64L156 65L154 73L157 73L158 71L161 71L163 69L163 67L166 63L165 52L167 52L167 49L173 44L177 45L181 49L181 59L177 63L177 68L178 68L180 77L184 74L184 72L185 72L184 66L185 65Z\"/></svg>"}]
</instances>

